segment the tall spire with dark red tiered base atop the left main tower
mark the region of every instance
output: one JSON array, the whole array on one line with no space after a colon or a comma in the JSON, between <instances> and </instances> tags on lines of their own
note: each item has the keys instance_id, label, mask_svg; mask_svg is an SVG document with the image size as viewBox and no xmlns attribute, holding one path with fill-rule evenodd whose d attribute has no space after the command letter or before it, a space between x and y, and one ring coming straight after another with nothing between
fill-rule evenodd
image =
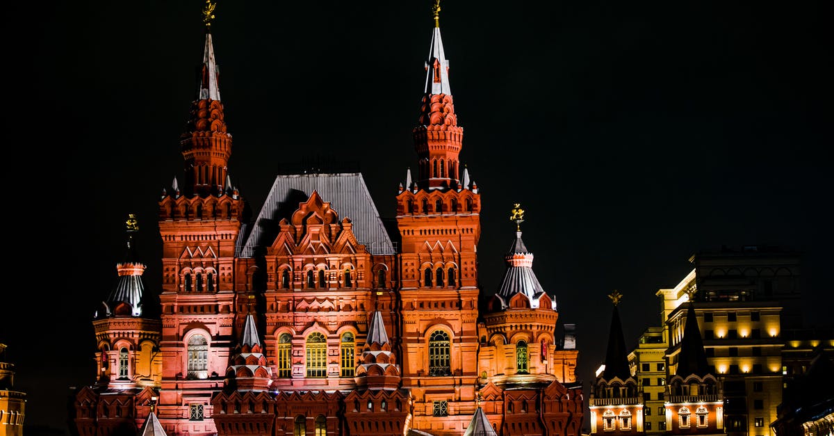
<instances>
[{"instance_id":1,"label":"tall spire with dark red tiered base atop the left main tower","mask_svg":"<svg viewBox=\"0 0 834 436\"><path fill-rule=\"evenodd\" d=\"M203 8L206 40L203 63L199 68L197 99L185 132L180 136L185 158L185 186L190 194L221 195L232 155L232 135L226 131L223 104L220 102L219 68L214 58L211 25L216 3L208 0Z\"/></svg>"}]
</instances>

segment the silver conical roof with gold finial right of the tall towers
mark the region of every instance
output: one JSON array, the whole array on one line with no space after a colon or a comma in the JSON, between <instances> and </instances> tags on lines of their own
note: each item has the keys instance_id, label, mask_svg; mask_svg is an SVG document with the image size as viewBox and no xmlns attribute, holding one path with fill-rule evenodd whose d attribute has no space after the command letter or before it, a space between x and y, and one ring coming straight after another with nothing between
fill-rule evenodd
<instances>
[{"instance_id":1,"label":"silver conical roof with gold finial right of the tall towers","mask_svg":"<svg viewBox=\"0 0 834 436\"><path fill-rule=\"evenodd\" d=\"M518 203L515 204L510 221L515 222L515 240L505 256L507 271L495 296L500 299L501 309L509 307L510 300L518 294L524 295L530 301L530 307L536 308L540 306L540 299L545 295L545 290L533 272L533 253L527 250L527 246L521 240L520 225L524 222L524 210ZM555 302L549 302L555 310Z\"/></svg>"}]
</instances>

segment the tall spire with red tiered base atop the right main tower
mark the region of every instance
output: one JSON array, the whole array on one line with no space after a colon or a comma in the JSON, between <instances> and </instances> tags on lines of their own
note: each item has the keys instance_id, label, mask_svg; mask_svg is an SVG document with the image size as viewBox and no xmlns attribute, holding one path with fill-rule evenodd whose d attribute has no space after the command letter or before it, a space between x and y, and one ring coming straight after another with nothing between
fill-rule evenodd
<instances>
[{"instance_id":1,"label":"tall spire with red tiered base atop the right main tower","mask_svg":"<svg viewBox=\"0 0 834 436\"><path fill-rule=\"evenodd\" d=\"M464 129L458 126L449 84L449 61L440 38L440 0L432 8L429 58L425 62L425 87L419 125L412 131L419 158L419 185L424 189L445 189L459 185L460 155Z\"/></svg>"}]
</instances>

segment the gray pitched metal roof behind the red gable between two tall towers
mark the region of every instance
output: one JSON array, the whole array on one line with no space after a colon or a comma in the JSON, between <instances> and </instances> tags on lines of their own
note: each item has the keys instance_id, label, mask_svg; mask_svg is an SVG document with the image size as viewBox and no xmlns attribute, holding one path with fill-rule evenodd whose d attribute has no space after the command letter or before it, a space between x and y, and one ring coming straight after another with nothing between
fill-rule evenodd
<instances>
[{"instance_id":1,"label":"gray pitched metal roof behind the red gable between two tall towers","mask_svg":"<svg viewBox=\"0 0 834 436\"><path fill-rule=\"evenodd\" d=\"M313 191L330 208L339 214L339 220L348 217L353 221L353 231L359 244L372 254L394 254L391 238L385 231L379 212L374 205L359 173L279 175L269 190L254 226L243 246L239 246L239 257L254 257L264 254L278 236L278 223L282 218L289 220L299 203L309 199ZM243 233L242 233L243 234Z\"/></svg>"}]
</instances>

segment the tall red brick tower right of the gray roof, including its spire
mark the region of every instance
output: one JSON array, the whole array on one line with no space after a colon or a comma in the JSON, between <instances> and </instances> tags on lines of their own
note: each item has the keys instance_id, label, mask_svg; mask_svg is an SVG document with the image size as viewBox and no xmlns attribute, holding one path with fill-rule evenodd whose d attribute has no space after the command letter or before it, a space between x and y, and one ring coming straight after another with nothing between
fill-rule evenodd
<instances>
[{"instance_id":1,"label":"tall red brick tower right of the gray roof, including its spire","mask_svg":"<svg viewBox=\"0 0 834 436\"><path fill-rule=\"evenodd\" d=\"M457 125L440 3L414 128L419 180L410 170L397 195L403 386L414 398L413 428L461 433L475 413L480 238L477 186L459 180L463 129Z\"/></svg>"}]
</instances>

